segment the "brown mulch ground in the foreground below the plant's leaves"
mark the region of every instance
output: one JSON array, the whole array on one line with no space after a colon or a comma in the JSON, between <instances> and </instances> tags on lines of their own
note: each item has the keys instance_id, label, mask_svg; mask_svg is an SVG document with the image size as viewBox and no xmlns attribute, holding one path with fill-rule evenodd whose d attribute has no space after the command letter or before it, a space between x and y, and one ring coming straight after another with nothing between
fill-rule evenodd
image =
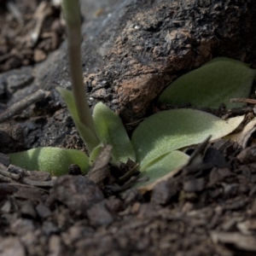
<instances>
[{"instance_id":1,"label":"brown mulch ground in the foreground below the plant's leaves","mask_svg":"<svg viewBox=\"0 0 256 256\"><path fill-rule=\"evenodd\" d=\"M218 141L145 195L1 166L0 255L255 255L255 155Z\"/></svg>"}]
</instances>

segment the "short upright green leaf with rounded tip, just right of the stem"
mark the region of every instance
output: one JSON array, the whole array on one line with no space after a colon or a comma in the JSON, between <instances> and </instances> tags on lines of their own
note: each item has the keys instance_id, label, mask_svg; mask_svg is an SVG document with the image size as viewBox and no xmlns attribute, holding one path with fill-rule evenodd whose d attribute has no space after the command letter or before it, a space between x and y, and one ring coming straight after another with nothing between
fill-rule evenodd
<instances>
[{"instance_id":1,"label":"short upright green leaf with rounded tip, just right of the stem","mask_svg":"<svg viewBox=\"0 0 256 256\"><path fill-rule=\"evenodd\" d=\"M112 155L114 161L126 163L130 158L136 160L135 152L130 138L119 116L110 110L102 102L98 102L92 115L98 137L104 143L113 146Z\"/></svg>"}]
</instances>

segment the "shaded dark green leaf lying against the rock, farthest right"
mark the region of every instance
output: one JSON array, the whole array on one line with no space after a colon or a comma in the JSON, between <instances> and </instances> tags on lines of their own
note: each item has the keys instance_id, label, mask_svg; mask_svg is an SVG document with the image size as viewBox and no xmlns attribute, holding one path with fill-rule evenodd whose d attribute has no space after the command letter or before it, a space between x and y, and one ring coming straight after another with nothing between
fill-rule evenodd
<instances>
[{"instance_id":1,"label":"shaded dark green leaf lying against the rock, farthest right","mask_svg":"<svg viewBox=\"0 0 256 256\"><path fill-rule=\"evenodd\" d=\"M241 103L230 103L230 99L248 97L255 75L256 70L241 61L213 59L175 80L159 101L172 105L191 103L197 108L218 108L222 102L227 108L241 107Z\"/></svg>"}]
</instances>

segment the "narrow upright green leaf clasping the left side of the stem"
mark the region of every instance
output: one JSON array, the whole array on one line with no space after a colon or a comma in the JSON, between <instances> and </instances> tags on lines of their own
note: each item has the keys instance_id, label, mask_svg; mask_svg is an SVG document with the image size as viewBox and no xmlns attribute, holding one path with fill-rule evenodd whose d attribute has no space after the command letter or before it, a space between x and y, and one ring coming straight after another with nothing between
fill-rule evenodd
<instances>
[{"instance_id":1,"label":"narrow upright green leaf clasping the left side of the stem","mask_svg":"<svg viewBox=\"0 0 256 256\"><path fill-rule=\"evenodd\" d=\"M72 91L63 89L61 87L57 87L57 90L60 92L64 102L66 102L67 104L68 111L73 118L73 122L76 125L79 131L79 135L84 141L84 144L90 151L92 151L93 148L96 148L96 146L100 143L100 141L93 134L93 132L90 131L88 127L86 127L82 122L79 121L79 115L77 112L77 108L75 106Z\"/></svg>"}]
</instances>

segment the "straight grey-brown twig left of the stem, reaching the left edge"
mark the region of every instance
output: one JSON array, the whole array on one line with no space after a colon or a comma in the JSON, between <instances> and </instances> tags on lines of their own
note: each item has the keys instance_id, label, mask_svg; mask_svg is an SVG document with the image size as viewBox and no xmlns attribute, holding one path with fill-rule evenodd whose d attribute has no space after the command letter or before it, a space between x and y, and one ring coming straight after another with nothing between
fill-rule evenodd
<instances>
[{"instance_id":1,"label":"straight grey-brown twig left of the stem, reaching the left edge","mask_svg":"<svg viewBox=\"0 0 256 256\"><path fill-rule=\"evenodd\" d=\"M32 105L32 103L38 102L42 98L47 96L47 91L37 90L29 96L26 96L24 99L20 100L20 102L16 102L11 107L7 108L3 113L0 114L0 123L3 121L10 119L16 113L20 113L23 109L26 109L28 106Z\"/></svg>"}]
</instances>

